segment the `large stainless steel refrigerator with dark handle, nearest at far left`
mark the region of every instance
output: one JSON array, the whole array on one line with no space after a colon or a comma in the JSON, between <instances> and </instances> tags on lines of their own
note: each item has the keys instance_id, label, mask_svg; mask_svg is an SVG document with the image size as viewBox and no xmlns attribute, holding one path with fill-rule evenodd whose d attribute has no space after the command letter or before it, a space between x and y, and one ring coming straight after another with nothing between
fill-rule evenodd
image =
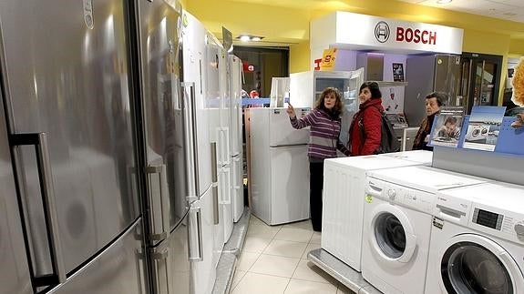
<instances>
[{"instance_id":1,"label":"large stainless steel refrigerator with dark handle, nearest at far left","mask_svg":"<svg viewBox=\"0 0 524 294\"><path fill-rule=\"evenodd\" d=\"M127 4L0 1L0 293L146 292Z\"/></svg>"}]
</instances>

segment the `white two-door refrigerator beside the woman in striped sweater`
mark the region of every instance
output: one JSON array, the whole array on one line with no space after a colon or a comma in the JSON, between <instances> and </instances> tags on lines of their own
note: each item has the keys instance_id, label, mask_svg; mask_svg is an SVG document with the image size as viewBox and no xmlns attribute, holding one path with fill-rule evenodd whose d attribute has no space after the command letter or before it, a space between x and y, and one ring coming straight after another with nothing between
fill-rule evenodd
<instances>
[{"instance_id":1,"label":"white two-door refrigerator beside the woman in striped sweater","mask_svg":"<svg viewBox=\"0 0 524 294\"><path fill-rule=\"evenodd\" d=\"M295 108L303 117L310 108ZM250 109L252 213L268 225L309 218L309 127L283 107Z\"/></svg>"}]
</instances>

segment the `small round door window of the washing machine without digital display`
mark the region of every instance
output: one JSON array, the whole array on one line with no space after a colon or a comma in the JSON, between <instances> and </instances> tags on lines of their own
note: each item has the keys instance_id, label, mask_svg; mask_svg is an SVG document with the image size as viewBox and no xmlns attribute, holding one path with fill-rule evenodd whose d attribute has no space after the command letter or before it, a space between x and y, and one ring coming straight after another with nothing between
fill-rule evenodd
<instances>
[{"instance_id":1,"label":"small round door window of the washing machine without digital display","mask_svg":"<svg viewBox=\"0 0 524 294\"><path fill-rule=\"evenodd\" d=\"M383 213L375 220L376 244L390 259L398 259L406 250L406 232L392 213Z\"/></svg>"}]
</instances>

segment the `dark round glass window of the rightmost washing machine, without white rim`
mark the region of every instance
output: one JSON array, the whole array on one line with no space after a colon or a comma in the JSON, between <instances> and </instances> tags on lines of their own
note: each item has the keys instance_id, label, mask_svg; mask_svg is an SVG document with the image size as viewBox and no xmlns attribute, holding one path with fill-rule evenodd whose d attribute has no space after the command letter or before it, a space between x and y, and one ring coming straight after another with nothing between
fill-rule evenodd
<instances>
[{"instance_id":1,"label":"dark round glass window of the rightmost washing machine, without white rim","mask_svg":"<svg viewBox=\"0 0 524 294\"><path fill-rule=\"evenodd\" d=\"M513 294L506 266L488 248L457 242L442 257L441 274L448 293Z\"/></svg>"}]
</instances>

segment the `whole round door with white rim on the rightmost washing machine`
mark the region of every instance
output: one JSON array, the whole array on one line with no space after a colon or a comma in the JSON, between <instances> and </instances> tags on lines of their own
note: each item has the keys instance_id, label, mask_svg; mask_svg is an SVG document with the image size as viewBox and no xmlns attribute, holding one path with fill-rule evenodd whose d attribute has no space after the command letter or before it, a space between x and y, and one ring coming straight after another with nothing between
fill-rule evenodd
<instances>
[{"instance_id":1,"label":"whole round door with white rim on the rightmost washing machine","mask_svg":"<svg viewBox=\"0 0 524 294\"><path fill-rule=\"evenodd\" d=\"M517 294L524 289L515 260L489 238L457 235L447 241L439 257L440 287L449 294Z\"/></svg>"}]
</instances>

